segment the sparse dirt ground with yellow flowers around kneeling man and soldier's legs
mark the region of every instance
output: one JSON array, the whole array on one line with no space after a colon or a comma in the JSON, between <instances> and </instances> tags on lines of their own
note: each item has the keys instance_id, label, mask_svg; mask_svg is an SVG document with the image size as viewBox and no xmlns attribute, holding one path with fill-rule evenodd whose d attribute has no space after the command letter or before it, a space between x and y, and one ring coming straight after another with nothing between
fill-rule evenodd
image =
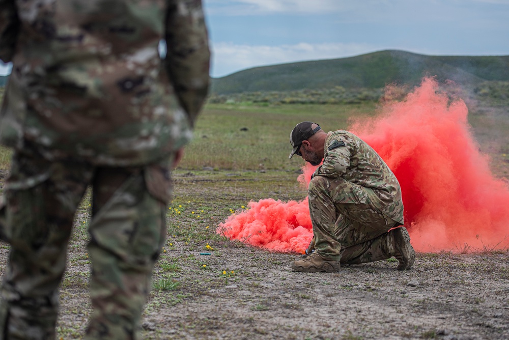
<instances>
[{"instance_id":1,"label":"sparse dirt ground with yellow flowers around kneeling man and soldier's legs","mask_svg":"<svg viewBox=\"0 0 509 340\"><path fill-rule=\"evenodd\" d=\"M296 176L175 175L169 211L181 214L168 213L168 241L154 270L142 338L509 338L507 250L418 253L408 271L397 271L397 262L389 259L345 266L338 273L306 274L288 266L298 254L248 247L215 234L230 209L251 199L302 199ZM62 339L80 338L91 313L85 232L89 211L86 199L76 216L61 288ZM8 247L0 248L4 266Z\"/></svg>"}]
</instances>

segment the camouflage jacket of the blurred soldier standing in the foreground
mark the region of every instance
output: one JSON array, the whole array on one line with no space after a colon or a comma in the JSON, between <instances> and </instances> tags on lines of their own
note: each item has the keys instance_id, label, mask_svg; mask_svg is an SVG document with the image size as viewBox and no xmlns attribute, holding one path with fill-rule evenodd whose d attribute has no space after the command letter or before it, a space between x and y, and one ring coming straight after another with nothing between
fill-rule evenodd
<instances>
[{"instance_id":1,"label":"camouflage jacket of the blurred soldier standing in the foreground","mask_svg":"<svg viewBox=\"0 0 509 340\"><path fill-rule=\"evenodd\" d=\"M209 58L201 0L0 0L0 59L13 62L0 141L50 160L153 162L190 139Z\"/></svg>"}]
</instances>

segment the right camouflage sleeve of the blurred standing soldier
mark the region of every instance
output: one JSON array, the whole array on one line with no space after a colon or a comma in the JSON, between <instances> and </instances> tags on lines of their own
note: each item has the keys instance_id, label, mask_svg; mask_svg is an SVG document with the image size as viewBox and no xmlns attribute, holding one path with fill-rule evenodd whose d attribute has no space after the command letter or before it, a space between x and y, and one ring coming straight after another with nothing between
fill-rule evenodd
<instances>
[{"instance_id":1,"label":"right camouflage sleeve of the blurred standing soldier","mask_svg":"<svg viewBox=\"0 0 509 340\"><path fill-rule=\"evenodd\" d=\"M169 2L165 67L191 124L207 96L210 51L201 0Z\"/></svg>"}]
</instances>

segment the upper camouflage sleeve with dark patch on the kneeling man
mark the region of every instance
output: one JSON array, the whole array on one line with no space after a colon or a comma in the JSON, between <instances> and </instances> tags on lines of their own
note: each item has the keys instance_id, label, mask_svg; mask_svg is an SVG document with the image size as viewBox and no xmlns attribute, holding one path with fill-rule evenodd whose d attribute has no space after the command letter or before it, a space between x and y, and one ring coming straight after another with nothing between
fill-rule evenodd
<instances>
[{"instance_id":1,"label":"upper camouflage sleeve with dark patch on the kneeling man","mask_svg":"<svg viewBox=\"0 0 509 340\"><path fill-rule=\"evenodd\" d=\"M336 141L334 147L335 139L331 140L329 145L326 146L326 154L323 160L323 164L318 168L317 175L325 176L330 178L341 177L344 173L346 173L347 168L350 166L350 157L352 155L352 147L349 143L345 144L344 141ZM328 150L329 147L333 149Z\"/></svg>"}]
</instances>

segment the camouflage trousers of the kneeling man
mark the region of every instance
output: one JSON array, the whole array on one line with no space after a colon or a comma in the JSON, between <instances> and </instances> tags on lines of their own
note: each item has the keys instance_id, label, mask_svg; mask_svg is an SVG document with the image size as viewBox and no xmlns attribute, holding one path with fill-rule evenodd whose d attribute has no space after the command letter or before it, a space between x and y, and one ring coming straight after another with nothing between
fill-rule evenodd
<instances>
[{"instance_id":1,"label":"camouflage trousers of the kneeling man","mask_svg":"<svg viewBox=\"0 0 509 340\"><path fill-rule=\"evenodd\" d=\"M366 189L353 186L341 177L315 176L309 183L315 249L324 259L342 264L388 259L394 254L394 236L388 231L400 223L369 199L359 199L355 192Z\"/></svg>"}]
</instances>

